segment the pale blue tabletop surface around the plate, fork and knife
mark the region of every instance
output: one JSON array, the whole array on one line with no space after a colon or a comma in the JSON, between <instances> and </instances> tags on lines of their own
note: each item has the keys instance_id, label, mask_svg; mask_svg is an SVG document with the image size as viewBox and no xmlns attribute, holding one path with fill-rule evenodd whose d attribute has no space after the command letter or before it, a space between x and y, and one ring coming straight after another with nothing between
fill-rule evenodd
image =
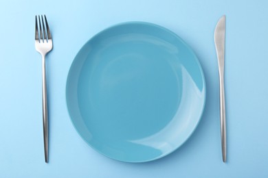
<instances>
[{"instance_id":1,"label":"pale blue tabletop surface around the plate, fork and knife","mask_svg":"<svg viewBox=\"0 0 268 178\"><path fill-rule=\"evenodd\" d=\"M267 1L1 1L0 177L268 177ZM47 56L49 164L44 162L41 55L34 15L46 14L54 50ZM226 14L227 163L221 161L219 76L214 27ZM174 153L154 162L111 160L85 143L65 104L76 53L104 28L147 21L181 36L207 83L199 127Z\"/></svg>"}]
</instances>

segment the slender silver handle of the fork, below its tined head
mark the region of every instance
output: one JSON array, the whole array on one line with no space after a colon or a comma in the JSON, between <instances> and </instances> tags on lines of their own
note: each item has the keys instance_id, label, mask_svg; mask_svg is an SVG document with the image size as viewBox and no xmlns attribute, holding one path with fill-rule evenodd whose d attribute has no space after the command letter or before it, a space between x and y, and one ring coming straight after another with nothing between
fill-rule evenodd
<instances>
[{"instance_id":1,"label":"slender silver handle of the fork, below its tined head","mask_svg":"<svg viewBox=\"0 0 268 178\"><path fill-rule=\"evenodd\" d=\"M45 55L42 55L42 99L43 99L43 137L45 162L48 162L48 117L47 117L47 79L45 72Z\"/></svg>"}]
</instances>

